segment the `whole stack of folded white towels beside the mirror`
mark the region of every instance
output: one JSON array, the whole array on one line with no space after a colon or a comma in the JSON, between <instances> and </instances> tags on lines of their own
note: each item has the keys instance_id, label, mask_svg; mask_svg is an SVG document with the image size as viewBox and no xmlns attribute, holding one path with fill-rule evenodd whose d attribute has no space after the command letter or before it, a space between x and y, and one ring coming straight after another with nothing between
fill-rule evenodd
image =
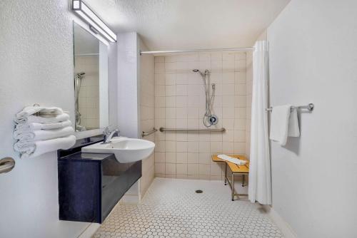
<instances>
[{"instance_id":1,"label":"whole stack of folded white towels beside the mirror","mask_svg":"<svg viewBox=\"0 0 357 238\"><path fill-rule=\"evenodd\" d=\"M76 143L69 115L61 108L26 107L15 116L14 150L21 157L66 150Z\"/></svg>"}]
</instances>

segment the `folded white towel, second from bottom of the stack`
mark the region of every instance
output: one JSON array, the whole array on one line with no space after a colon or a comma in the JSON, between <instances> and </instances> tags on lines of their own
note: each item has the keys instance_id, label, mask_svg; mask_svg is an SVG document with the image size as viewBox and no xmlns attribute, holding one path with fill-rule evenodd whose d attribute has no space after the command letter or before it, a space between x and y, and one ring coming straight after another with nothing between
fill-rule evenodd
<instances>
[{"instance_id":1,"label":"folded white towel, second from bottom of the stack","mask_svg":"<svg viewBox=\"0 0 357 238\"><path fill-rule=\"evenodd\" d=\"M74 129L71 126L54 130L29 130L29 131L14 131L14 138L16 140L50 140L54 138L61 138L68 135L73 135Z\"/></svg>"}]
</instances>

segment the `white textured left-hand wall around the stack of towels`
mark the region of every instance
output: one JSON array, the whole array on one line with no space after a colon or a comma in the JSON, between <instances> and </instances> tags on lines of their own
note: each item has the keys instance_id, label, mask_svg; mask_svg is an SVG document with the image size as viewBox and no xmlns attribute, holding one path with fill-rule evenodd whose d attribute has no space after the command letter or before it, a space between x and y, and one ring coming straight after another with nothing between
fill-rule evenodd
<instances>
[{"instance_id":1,"label":"white textured left-hand wall around the stack of towels","mask_svg":"<svg viewBox=\"0 0 357 238\"><path fill-rule=\"evenodd\" d=\"M12 149L25 105L56 105L74 121L73 19L67 0L0 1L0 157L16 160L0 174L0 237L78 237L88 226L59 221L56 152L21 160Z\"/></svg>"}]
</instances>

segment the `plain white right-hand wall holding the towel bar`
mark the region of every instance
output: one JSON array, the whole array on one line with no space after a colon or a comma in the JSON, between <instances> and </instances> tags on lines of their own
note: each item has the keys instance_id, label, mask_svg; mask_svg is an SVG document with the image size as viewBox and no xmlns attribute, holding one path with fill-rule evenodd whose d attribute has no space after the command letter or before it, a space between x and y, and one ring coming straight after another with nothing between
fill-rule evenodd
<instances>
[{"instance_id":1,"label":"plain white right-hand wall holding the towel bar","mask_svg":"<svg viewBox=\"0 0 357 238\"><path fill-rule=\"evenodd\" d=\"M273 209L298 237L357 234L357 1L293 0L268 27L271 105L315 103L271 143Z\"/></svg>"}]
</instances>

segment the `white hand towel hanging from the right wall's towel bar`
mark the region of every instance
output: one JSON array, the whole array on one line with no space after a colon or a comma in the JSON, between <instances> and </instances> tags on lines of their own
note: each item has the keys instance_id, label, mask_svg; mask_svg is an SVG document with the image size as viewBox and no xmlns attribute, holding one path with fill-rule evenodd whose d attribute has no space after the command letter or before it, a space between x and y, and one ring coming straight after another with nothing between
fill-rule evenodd
<instances>
[{"instance_id":1,"label":"white hand towel hanging from the right wall's towel bar","mask_svg":"<svg viewBox=\"0 0 357 238\"><path fill-rule=\"evenodd\" d=\"M291 105L278 105L271 111L270 139L286 145Z\"/></svg>"}]
</instances>

